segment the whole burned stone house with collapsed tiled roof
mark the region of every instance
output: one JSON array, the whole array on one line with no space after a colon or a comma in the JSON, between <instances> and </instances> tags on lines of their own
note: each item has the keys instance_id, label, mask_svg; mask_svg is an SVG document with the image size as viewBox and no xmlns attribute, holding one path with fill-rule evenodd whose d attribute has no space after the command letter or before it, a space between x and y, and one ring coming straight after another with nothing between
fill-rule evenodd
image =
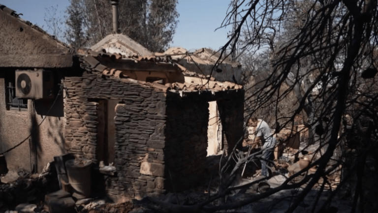
<instances>
[{"instance_id":1,"label":"whole burned stone house with collapsed tiled roof","mask_svg":"<svg viewBox=\"0 0 378 213\"><path fill-rule=\"evenodd\" d=\"M243 135L238 84L189 71L172 54L145 55L123 35L74 54L3 5L0 16L0 153L10 170L38 172L71 153L114 163L104 175L110 197L141 197L171 190L168 174L176 190L203 179L209 103L218 149L229 153Z\"/></svg>"}]
</instances>

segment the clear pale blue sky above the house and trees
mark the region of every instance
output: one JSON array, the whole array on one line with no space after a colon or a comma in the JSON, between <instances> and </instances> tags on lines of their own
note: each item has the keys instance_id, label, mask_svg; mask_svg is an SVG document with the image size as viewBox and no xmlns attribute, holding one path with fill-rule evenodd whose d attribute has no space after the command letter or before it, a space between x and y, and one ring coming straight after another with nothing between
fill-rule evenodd
<instances>
[{"instance_id":1,"label":"clear pale blue sky above the house and trees","mask_svg":"<svg viewBox=\"0 0 378 213\"><path fill-rule=\"evenodd\" d=\"M231 0L179 0L177 10L180 13L179 24L171 46L181 46L186 49L211 47L219 49L227 42L227 32L231 30L219 29L226 15ZM57 7L58 14L62 14L68 6L68 0L0 0L3 4L17 13L21 18L44 26L47 7Z\"/></svg>"}]
</instances>

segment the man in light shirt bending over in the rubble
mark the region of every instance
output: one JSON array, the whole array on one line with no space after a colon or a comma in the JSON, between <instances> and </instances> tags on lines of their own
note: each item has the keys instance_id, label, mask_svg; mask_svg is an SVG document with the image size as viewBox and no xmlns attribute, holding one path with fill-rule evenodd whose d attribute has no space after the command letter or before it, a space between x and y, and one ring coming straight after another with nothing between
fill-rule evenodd
<instances>
[{"instance_id":1,"label":"man in light shirt bending over in the rubble","mask_svg":"<svg viewBox=\"0 0 378 213\"><path fill-rule=\"evenodd\" d=\"M268 167L266 166L269 159L273 155L273 149L276 145L276 139L271 133L269 125L256 117L251 117L247 123L249 135L255 134L254 142L252 143L251 149L253 149L259 142L262 143L262 156L261 156L261 175L268 177ZM253 127L253 128L250 128ZM254 131L252 132L251 130ZM251 138L249 137L249 140Z\"/></svg>"}]
</instances>

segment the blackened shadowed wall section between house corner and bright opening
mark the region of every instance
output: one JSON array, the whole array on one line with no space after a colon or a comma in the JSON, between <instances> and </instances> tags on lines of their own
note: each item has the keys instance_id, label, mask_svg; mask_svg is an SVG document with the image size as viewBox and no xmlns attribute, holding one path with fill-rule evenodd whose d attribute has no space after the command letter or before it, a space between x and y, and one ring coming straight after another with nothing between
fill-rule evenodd
<instances>
[{"instance_id":1,"label":"blackened shadowed wall section between house corner and bright opening","mask_svg":"<svg viewBox=\"0 0 378 213\"><path fill-rule=\"evenodd\" d=\"M207 95L180 97L170 93L167 95L166 111L166 166L175 189L188 189L204 179L209 123ZM170 182L166 185L172 190Z\"/></svg>"}]
</instances>

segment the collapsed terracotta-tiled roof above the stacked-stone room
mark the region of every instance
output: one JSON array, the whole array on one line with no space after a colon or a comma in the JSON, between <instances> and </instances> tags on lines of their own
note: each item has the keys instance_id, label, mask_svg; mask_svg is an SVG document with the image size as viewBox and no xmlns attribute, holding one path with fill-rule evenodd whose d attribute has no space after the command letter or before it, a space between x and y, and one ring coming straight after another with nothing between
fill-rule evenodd
<instances>
[{"instance_id":1,"label":"collapsed terracotta-tiled roof above the stacked-stone room","mask_svg":"<svg viewBox=\"0 0 378 213\"><path fill-rule=\"evenodd\" d=\"M159 89L163 92L180 91L224 91L242 89L233 82L215 81L214 77L191 72L177 64L171 56L124 55L88 50L80 59L81 67L86 71L98 72L103 76L120 78L123 82L133 82ZM159 75L154 75L159 73ZM166 76L166 82L156 80L148 82L149 76ZM140 80L144 79L144 80Z\"/></svg>"}]
</instances>

